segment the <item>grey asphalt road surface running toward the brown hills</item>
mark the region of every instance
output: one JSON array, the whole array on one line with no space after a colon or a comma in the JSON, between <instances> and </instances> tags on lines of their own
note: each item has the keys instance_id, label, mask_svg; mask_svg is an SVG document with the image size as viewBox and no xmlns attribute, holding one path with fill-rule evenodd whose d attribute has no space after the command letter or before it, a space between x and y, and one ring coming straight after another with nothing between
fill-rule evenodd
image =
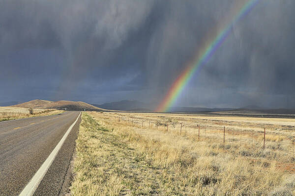
<instances>
[{"instance_id":1,"label":"grey asphalt road surface running toward the brown hills","mask_svg":"<svg viewBox=\"0 0 295 196\"><path fill-rule=\"evenodd\" d=\"M0 123L0 196L17 196L58 145L80 112ZM58 196L75 147L81 116L66 137L34 196Z\"/></svg>"}]
</instances>

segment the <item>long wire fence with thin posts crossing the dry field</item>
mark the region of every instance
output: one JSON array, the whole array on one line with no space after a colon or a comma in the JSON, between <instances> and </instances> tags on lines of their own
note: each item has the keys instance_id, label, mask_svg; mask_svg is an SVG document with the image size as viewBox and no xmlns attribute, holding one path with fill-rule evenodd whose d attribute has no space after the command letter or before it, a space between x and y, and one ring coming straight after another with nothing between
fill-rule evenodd
<instances>
[{"instance_id":1,"label":"long wire fence with thin posts crossing the dry field","mask_svg":"<svg viewBox=\"0 0 295 196\"><path fill-rule=\"evenodd\" d=\"M128 118L118 116L118 121L142 128L154 128L166 132L179 133L179 135L192 135L197 142L209 141L219 145L234 145L244 147L246 156L250 156L255 149L264 149L264 152L272 153L274 159L286 162L295 161L295 136L273 134L263 131L249 131L244 129L227 128L226 126L212 127L196 123L176 123L170 121L158 121L144 118ZM270 150L270 151L267 151Z\"/></svg>"}]
</instances>

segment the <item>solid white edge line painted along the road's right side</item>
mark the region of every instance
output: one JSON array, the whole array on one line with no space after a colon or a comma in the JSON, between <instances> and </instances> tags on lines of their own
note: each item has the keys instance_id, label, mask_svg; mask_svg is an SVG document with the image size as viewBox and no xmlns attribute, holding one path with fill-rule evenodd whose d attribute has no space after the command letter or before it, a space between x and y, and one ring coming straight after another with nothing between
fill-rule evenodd
<instances>
[{"instance_id":1,"label":"solid white edge line painted along the road's right side","mask_svg":"<svg viewBox=\"0 0 295 196\"><path fill-rule=\"evenodd\" d=\"M68 130L65 132L61 140L59 141L59 144L52 150L50 155L47 157L47 159L44 161L42 166L39 168L39 170L35 173L35 175L32 177L32 179L29 181L27 186L23 189L21 194L19 196L32 196L37 187L39 186L41 180L43 179L45 173L48 171L49 167L51 166L52 162L54 161L55 157L57 156L59 149L63 145L66 137L71 132L73 126L77 123L79 117L81 115L81 112L79 116L77 117L76 121L68 128Z\"/></svg>"}]
</instances>

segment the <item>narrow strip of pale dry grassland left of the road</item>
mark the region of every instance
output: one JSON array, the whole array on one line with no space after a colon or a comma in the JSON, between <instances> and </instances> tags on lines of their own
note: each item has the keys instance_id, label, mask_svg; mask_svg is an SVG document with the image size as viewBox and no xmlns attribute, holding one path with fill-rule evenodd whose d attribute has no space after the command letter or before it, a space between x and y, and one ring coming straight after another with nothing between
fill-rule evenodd
<instances>
[{"instance_id":1,"label":"narrow strip of pale dry grassland left of the road","mask_svg":"<svg viewBox=\"0 0 295 196\"><path fill-rule=\"evenodd\" d=\"M28 117L55 115L63 112L64 111L55 109L33 109L33 114L30 114L28 108L0 107L0 122Z\"/></svg>"}]
</instances>

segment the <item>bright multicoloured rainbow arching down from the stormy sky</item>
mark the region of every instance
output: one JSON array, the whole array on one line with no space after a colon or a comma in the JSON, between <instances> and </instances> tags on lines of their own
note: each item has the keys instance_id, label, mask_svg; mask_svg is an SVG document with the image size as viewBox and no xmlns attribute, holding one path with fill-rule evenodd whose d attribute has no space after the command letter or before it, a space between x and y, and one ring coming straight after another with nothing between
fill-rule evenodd
<instances>
[{"instance_id":1,"label":"bright multicoloured rainbow arching down from the stormy sky","mask_svg":"<svg viewBox=\"0 0 295 196\"><path fill-rule=\"evenodd\" d=\"M160 102L158 107L156 108L155 112L167 112L171 106L174 105L177 98L181 94L182 90L185 86L189 83L190 79L193 75L200 70L202 65L206 64L209 58L214 54L214 52L222 45L222 43L226 40L226 38L231 33L234 25L241 20L244 16L246 16L255 5L258 3L259 0L247 0L240 8L236 11L236 17L232 20L228 25L225 25L219 33L215 34L217 36L211 36L207 40L205 46L201 47L192 61L190 61L186 66L185 69L180 73L177 79L171 85L169 91L167 92L166 96ZM218 31L217 31L218 32Z\"/></svg>"}]
</instances>

